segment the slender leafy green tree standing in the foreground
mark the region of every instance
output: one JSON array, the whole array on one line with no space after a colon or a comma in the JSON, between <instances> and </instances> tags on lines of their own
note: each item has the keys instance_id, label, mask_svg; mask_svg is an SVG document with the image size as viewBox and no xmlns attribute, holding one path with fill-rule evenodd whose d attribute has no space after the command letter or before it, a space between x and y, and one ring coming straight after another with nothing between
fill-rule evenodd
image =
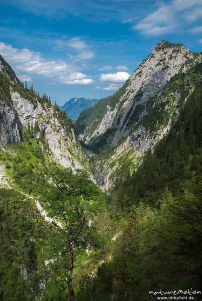
<instances>
[{"instance_id":1,"label":"slender leafy green tree standing in the foreground","mask_svg":"<svg viewBox=\"0 0 202 301\"><path fill-rule=\"evenodd\" d=\"M51 280L60 279L66 283L69 300L73 300L75 260L86 248L95 246L90 223L96 209L104 205L104 200L99 200L98 189L95 185L93 187L84 171L77 170L73 174L71 169L55 166L50 170L50 177L55 185L49 189L45 200L48 201L49 216L61 222L61 227L54 231L52 258L55 259L49 264Z\"/></svg>"}]
</instances>

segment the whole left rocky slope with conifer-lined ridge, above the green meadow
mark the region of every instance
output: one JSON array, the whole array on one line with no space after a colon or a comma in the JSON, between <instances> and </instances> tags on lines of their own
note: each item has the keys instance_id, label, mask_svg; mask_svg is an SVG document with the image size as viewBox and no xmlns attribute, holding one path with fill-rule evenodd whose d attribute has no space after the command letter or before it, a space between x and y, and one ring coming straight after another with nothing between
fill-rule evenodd
<instances>
[{"instance_id":1,"label":"whole left rocky slope with conifer-lined ridge, above the green meadow","mask_svg":"<svg viewBox=\"0 0 202 301\"><path fill-rule=\"evenodd\" d=\"M37 137L43 137L62 166L90 170L71 120L57 105L51 106L48 98L24 88L4 59L0 62L0 145L21 143L24 127L30 127Z\"/></svg>"}]
</instances>

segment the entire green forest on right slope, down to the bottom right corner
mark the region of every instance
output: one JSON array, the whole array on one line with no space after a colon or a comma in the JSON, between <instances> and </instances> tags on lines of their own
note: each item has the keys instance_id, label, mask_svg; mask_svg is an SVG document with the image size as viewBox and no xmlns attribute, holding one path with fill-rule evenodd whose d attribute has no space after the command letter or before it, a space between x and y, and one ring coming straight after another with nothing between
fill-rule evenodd
<instances>
[{"instance_id":1,"label":"entire green forest on right slope, down to the bottom right corner","mask_svg":"<svg viewBox=\"0 0 202 301\"><path fill-rule=\"evenodd\" d=\"M201 68L198 64L166 85L163 93L170 95L169 114L179 110L168 135L146 154L132 177L124 166L120 171L125 181L112 189L105 220L106 227L112 226L110 235L115 229L119 233L119 227L121 235L109 245L106 234L105 256L112 254L112 260L98 267L96 277L82 278L79 301L104 301L112 295L120 301L147 301L149 290L159 287L201 291ZM188 96L190 86L194 90ZM177 108L170 94L175 91L181 95ZM159 104L143 120L152 133L169 118L162 114L167 103L161 103L162 108ZM124 218L127 222L122 225Z\"/></svg>"}]
</instances>

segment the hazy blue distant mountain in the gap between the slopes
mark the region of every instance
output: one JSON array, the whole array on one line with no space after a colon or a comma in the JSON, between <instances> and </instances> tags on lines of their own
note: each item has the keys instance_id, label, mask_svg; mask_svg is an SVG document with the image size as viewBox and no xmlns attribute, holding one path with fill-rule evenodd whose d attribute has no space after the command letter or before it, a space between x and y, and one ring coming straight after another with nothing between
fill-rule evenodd
<instances>
[{"instance_id":1,"label":"hazy blue distant mountain in the gap between the slopes","mask_svg":"<svg viewBox=\"0 0 202 301\"><path fill-rule=\"evenodd\" d=\"M77 120L83 110L91 108L97 101L95 98L73 97L60 108L64 109L72 120Z\"/></svg>"}]
</instances>

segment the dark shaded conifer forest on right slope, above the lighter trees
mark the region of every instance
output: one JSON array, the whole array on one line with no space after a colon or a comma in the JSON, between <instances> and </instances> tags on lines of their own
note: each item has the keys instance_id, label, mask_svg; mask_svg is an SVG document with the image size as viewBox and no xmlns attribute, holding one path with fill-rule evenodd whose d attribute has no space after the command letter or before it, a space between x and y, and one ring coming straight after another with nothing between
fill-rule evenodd
<instances>
[{"instance_id":1,"label":"dark shaded conifer forest on right slope, above the lighter trees","mask_svg":"<svg viewBox=\"0 0 202 301\"><path fill-rule=\"evenodd\" d=\"M148 152L134 173L128 185L132 187L134 200L152 201L154 191L166 185L174 193L181 182L201 172L201 97L202 90L198 86L188 97L169 134L157 144L153 154Z\"/></svg>"}]
</instances>

